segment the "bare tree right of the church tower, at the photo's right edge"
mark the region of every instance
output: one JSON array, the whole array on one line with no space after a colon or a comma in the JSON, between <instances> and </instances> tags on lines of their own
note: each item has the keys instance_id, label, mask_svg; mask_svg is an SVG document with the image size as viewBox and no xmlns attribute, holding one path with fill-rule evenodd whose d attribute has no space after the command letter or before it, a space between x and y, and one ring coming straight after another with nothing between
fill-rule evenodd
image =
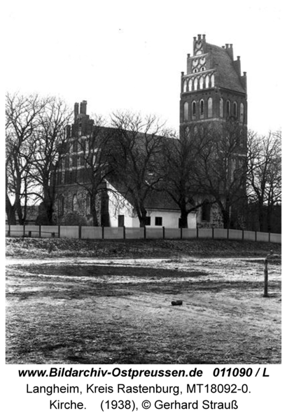
<instances>
[{"instance_id":1,"label":"bare tree right of the church tower, at the photo's right edge","mask_svg":"<svg viewBox=\"0 0 287 420\"><path fill-rule=\"evenodd\" d=\"M247 183L249 202L257 208L259 230L271 231L274 207L281 204L281 132L249 136Z\"/></svg>"}]
</instances>

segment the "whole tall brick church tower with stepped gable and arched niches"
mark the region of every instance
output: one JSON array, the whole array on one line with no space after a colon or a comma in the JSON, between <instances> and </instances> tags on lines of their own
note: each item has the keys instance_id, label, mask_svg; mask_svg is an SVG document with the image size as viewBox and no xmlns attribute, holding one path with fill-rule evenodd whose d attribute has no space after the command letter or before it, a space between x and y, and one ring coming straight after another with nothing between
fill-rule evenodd
<instances>
[{"instance_id":1,"label":"whole tall brick church tower with stepped gable and arched niches","mask_svg":"<svg viewBox=\"0 0 287 420\"><path fill-rule=\"evenodd\" d=\"M180 136L190 138L193 145L204 135L209 135L216 146L211 155L214 160L207 165L211 169L202 173L202 194L195 194L195 202L202 203L197 227L236 225L241 218L239 208L246 203L246 73L241 75L240 57L234 59L232 44L218 47L207 43L205 35L198 35L193 38L193 55L187 57L186 74L181 73ZM232 147L225 139L232 139ZM212 172L221 147L225 150L219 152L220 160L224 155L225 163ZM211 205L215 195L221 200ZM219 201L224 211L218 211Z\"/></svg>"}]
</instances>

